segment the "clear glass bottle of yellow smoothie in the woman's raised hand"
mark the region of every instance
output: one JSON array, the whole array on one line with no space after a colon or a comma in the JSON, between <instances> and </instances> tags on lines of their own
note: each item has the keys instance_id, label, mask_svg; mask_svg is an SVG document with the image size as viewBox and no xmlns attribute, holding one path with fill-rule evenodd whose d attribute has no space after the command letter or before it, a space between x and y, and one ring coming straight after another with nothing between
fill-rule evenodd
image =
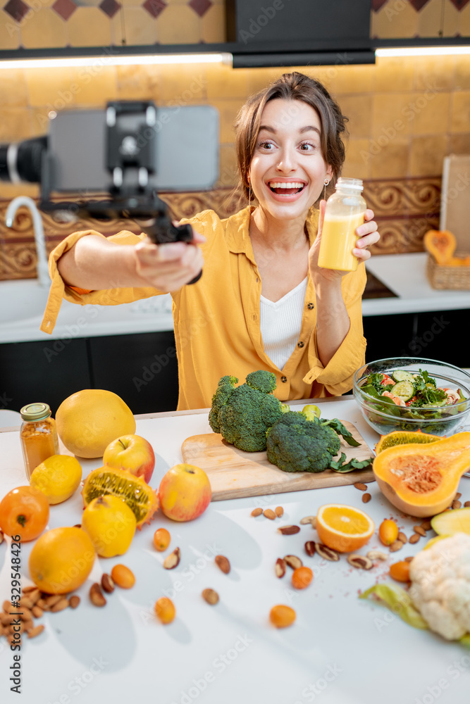
<instances>
[{"instance_id":1,"label":"clear glass bottle of yellow smoothie in the woman's raised hand","mask_svg":"<svg viewBox=\"0 0 470 704\"><path fill-rule=\"evenodd\" d=\"M359 178L339 178L335 189L326 202L319 266L356 271L359 262L352 249L358 239L356 228L364 222L367 208L361 196L362 181Z\"/></svg>"}]
</instances>

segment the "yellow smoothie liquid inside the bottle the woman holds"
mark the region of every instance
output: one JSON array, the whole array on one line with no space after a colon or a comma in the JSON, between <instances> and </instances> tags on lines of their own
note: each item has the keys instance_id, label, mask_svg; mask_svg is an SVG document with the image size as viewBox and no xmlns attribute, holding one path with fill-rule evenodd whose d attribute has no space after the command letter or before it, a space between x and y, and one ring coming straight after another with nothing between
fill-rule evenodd
<instances>
[{"instance_id":1,"label":"yellow smoothie liquid inside the bottle the woman holds","mask_svg":"<svg viewBox=\"0 0 470 704\"><path fill-rule=\"evenodd\" d=\"M352 249L358 239L356 228L364 222L364 213L325 215L319 253L319 266L326 269L356 271L358 260Z\"/></svg>"}]
</instances>

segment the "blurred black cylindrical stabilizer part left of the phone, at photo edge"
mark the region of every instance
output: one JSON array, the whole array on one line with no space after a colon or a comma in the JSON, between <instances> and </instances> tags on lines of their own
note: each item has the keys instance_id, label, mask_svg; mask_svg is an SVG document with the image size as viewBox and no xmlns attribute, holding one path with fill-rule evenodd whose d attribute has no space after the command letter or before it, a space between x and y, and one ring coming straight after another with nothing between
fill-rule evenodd
<instances>
[{"instance_id":1,"label":"blurred black cylindrical stabilizer part left of the phone, at photo edge","mask_svg":"<svg viewBox=\"0 0 470 704\"><path fill-rule=\"evenodd\" d=\"M23 142L0 145L0 180L18 183L41 180L42 155L47 137L33 137Z\"/></svg>"}]
</instances>

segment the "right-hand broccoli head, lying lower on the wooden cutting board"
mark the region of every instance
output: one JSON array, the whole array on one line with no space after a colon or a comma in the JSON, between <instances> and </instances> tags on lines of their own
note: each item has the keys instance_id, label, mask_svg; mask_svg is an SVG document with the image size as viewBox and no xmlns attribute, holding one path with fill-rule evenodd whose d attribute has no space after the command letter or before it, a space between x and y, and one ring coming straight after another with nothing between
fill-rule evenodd
<instances>
[{"instance_id":1,"label":"right-hand broccoli head, lying lower on the wooden cutting board","mask_svg":"<svg viewBox=\"0 0 470 704\"><path fill-rule=\"evenodd\" d=\"M330 426L296 411L285 413L267 434L268 460L284 472L323 472L340 447Z\"/></svg>"}]
</instances>

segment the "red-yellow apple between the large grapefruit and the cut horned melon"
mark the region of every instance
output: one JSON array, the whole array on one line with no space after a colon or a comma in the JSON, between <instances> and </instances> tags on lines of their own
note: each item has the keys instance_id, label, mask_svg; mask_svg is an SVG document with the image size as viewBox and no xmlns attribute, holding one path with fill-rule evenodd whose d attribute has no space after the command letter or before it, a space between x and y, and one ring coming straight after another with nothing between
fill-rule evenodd
<instances>
[{"instance_id":1,"label":"red-yellow apple between the large grapefruit and the cut horned melon","mask_svg":"<svg viewBox=\"0 0 470 704\"><path fill-rule=\"evenodd\" d=\"M149 441L140 435L121 435L106 447L103 464L114 470L128 470L148 484L154 472L155 454Z\"/></svg>"}]
</instances>

